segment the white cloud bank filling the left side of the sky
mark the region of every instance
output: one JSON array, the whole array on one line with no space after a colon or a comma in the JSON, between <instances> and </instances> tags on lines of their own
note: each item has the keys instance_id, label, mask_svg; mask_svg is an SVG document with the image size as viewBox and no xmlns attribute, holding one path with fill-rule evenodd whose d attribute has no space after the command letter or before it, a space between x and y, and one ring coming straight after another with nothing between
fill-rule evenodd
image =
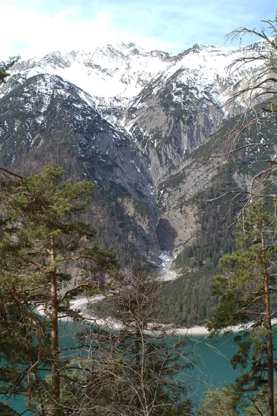
<instances>
[{"instance_id":1,"label":"white cloud bank filling the left side of the sky","mask_svg":"<svg viewBox=\"0 0 277 416\"><path fill-rule=\"evenodd\" d=\"M74 8L49 17L39 12L19 10L12 6L0 5L4 17L1 31L0 57L21 55L30 58L42 56L54 50L93 49L95 46L135 40L148 47L172 46L170 42L151 40L141 35L136 28L123 28L116 24L112 10L96 12L91 21L75 19Z\"/></svg>"}]
</instances>

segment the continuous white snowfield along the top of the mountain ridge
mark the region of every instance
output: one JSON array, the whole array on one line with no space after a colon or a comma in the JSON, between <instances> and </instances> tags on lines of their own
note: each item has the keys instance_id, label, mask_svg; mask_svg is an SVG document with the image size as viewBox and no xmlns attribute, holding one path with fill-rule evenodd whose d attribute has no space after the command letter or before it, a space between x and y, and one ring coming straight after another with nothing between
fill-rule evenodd
<instances>
[{"instance_id":1,"label":"continuous white snowfield along the top of the mountain ridge","mask_svg":"<svg viewBox=\"0 0 277 416\"><path fill-rule=\"evenodd\" d=\"M267 47L263 41L253 45L222 47L196 44L177 56L171 56L162 51L145 51L132 42L109 44L93 51L56 51L42 59L19 62L11 72L21 73L27 78L39 73L57 75L91 96L105 98L107 103L113 97L127 99L131 103L151 80L160 77L160 82L166 83L178 71L179 82L193 87L199 98L206 94L208 88L215 102L223 105L228 98L226 91L229 85L234 85L247 76L247 71L253 71L262 64L260 60L254 61L244 64L235 73L232 69L230 73L231 62L249 53L258 55ZM219 85L227 78L229 85L222 90ZM159 90L160 82L157 82L153 94Z\"/></svg>"}]
</instances>

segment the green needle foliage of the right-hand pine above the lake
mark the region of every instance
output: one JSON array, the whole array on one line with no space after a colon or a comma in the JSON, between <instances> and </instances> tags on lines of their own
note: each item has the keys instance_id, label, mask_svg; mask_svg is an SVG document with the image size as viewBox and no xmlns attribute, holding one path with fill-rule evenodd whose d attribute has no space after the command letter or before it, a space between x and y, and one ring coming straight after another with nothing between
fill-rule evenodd
<instances>
[{"instance_id":1,"label":"green needle foliage of the right-hand pine above the lake","mask_svg":"<svg viewBox=\"0 0 277 416\"><path fill-rule=\"evenodd\" d=\"M220 296L214 329L238 324L249 318L257 318L265 309L265 276L263 261L270 269L276 259L276 247L267 248L262 257L262 235L267 234L267 243L274 232L274 215L267 211L262 202L250 205L247 218L238 223L242 231L236 233L236 248L233 254L220 259L219 266L225 274L215 277L213 291ZM270 280L274 298L275 281ZM272 300L271 300L272 301ZM260 319L260 318L259 318ZM216 326L215 326L216 325Z\"/></svg>"}]
</instances>

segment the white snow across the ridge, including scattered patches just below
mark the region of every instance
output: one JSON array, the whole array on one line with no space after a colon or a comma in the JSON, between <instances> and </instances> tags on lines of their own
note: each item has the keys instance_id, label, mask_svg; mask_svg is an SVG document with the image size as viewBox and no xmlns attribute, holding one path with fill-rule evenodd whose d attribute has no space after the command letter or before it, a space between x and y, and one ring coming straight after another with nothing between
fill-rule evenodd
<instances>
[{"instance_id":1,"label":"white snow across the ridge, including scattered patches just below","mask_svg":"<svg viewBox=\"0 0 277 416\"><path fill-rule=\"evenodd\" d=\"M127 116L127 110L132 106L136 111L143 110L148 94L158 95L165 85L170 85L172 102L185 106L185 109L190 95L181 92L182 87L188 88L198 100L204 98L206 102L213 101L217 107L223 107L233 94L234 85L242 80L247 83L262 61L231 69L230 64L265 51L267 44L262 41L242 47L195 44L176 56L163 51L145 51L132 42L114 46L108 44L93 51L55 51L41 59L32 58L15 64L9 83L1 87L0 97L25 83L28 78L44 75L44 80L41 79L37 86L37 94L44 95L44 112L51 98L51 76L58 76L61 85L69 82L78 87L81 100L97 110L102 118L116 128L120 125L127 132L132 132L136 120L131 121L132 114ZM238 70L234 71L235 68ZM59 94L70 94L69 85L64 89L61 87ZM239 107L245 105L243 101L238 101L238 104ZM224 111L228 116L228 109ZM143 130L141 132L143 134ZM153 143L157 145L157 141Z\"/></svg>"}]
</instances>

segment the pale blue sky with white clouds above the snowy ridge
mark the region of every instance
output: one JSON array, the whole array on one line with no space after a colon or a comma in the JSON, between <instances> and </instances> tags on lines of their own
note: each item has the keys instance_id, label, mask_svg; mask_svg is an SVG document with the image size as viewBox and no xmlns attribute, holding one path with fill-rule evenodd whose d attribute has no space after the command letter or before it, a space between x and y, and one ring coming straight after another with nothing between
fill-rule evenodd
<instances>
[{"instance_id":1,"label":"pale blue sky with white clouds above the snowy ridge","mask_svg":"<svg viewBox=\"0 0 277 416\"><path fill-rule=\"evenodd\" d=\"M0 60L52 51L93 50L135 42L177 54L196 43L225 43L240 26L260 30L274 20L275 0L0 0ZM247 37L242 44L255 42Z\"/></svg>"}]
</instances>

